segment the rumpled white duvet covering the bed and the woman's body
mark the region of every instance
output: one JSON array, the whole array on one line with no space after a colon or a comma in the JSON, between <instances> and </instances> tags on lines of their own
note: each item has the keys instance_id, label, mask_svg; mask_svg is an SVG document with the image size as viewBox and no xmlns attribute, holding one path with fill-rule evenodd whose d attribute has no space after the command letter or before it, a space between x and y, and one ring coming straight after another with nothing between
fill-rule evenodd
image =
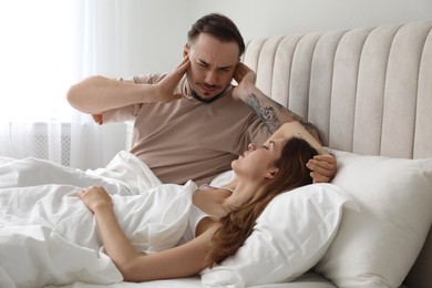
<instances>
[{"instance_id":1,"label":"rumpled white duvet covering the bed and the woman's body","mask_svg":"<svg viewBox=\"0 0 432 288\"><path fill-rule=\"evenodd\" d=\"M86 172L0 158L0 287L122 281L103 251L93 214L74 196L90 185L106 188L123 230L146 253L178 243L196 189L193 182L162 185L126 152L105 168Z\"/></svg>"}]
</instances>

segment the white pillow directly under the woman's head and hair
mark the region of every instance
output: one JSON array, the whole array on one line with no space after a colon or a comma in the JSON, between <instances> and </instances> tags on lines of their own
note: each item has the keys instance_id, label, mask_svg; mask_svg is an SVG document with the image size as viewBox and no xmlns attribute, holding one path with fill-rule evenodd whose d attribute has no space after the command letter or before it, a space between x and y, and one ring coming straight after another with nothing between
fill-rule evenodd
<instances>
[{"instance_id":1,"label":"white pillow directly under the woman's head and hair","mask_svg":"<svg viewBox=\"0 0 432 288\"><path fill-rule=\"evenodd\" d=\"M215 184L222 182L212 182ZM356 203L332 184L308 185L277 196L244 246L222 265L205 269L202 282L206 287L245 287L298 277L329 247L343 206L356 207Z\"/></svg>"}]
</instances>

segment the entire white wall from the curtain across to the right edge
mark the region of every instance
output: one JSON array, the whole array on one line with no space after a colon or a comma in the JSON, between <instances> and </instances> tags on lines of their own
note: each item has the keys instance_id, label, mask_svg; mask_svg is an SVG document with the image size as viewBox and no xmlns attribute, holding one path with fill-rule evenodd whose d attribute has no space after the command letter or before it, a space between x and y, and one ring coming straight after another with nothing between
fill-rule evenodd
<instances>
[{"instance_id":1,"label":"entire white wall from the curtain across to the right edge","mask_svg":"<svg viewBox=\"0 0 432 288\"><path fill-rule=\"evenodd\" d=\"M130 6L130 3L133 3ZM232 18L255 37L432 20L432 0L128 0L122 75L164 72L182 59L186 32L204 14Z\"/></svg>"}]
</instances>

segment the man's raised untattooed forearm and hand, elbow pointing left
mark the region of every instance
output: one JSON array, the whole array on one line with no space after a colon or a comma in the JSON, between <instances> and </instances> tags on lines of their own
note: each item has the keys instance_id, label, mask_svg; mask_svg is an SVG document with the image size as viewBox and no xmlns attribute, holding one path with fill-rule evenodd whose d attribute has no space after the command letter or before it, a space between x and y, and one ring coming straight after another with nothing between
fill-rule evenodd
<instances>
[{"instance_id":1,"label":"man's raised untattooed forearm and hand, elbow pointing left","mask_svg":"<svg viewBox=\"0 0 432 288\"><path fill-rule=\"evenodd\" d=\"M99 114L107 110L136 103L169 102L181 97L174 90L189 65L188 58L157 84L136 84L103 76L90 76L72 85L68 92L69 103L76 110Z\"/></svg>"}]
</instances>

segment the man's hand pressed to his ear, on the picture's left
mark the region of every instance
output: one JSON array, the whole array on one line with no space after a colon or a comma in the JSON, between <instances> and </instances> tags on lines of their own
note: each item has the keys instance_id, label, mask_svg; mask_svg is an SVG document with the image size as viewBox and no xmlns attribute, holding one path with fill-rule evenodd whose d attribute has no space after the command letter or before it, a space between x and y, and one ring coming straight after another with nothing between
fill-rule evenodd
<instances>
[{"instance_id":1,"label":"man's hand pressed to his ear, on the picture's left","mask_svg":"<svg viewBox=\"0 0 432 288\"><path fill-rule=\"evenodd\" d=\"M174 71L167 74L161 82L155 84L157 102L168 103L182 97L181 93L174 93L174 91L186 73L189 63L189 58L185 56Z\"/></svg>"}]
</instances>

